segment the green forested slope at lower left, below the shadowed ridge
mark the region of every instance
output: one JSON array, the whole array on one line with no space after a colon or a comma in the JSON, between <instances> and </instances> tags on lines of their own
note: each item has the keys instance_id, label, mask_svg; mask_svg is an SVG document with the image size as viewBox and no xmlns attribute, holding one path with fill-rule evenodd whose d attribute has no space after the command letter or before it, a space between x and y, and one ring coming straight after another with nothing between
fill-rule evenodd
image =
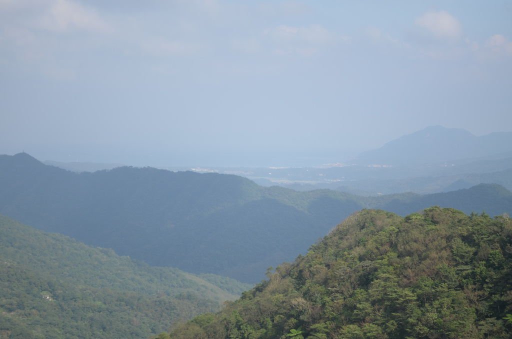
<instances>
[{"instance_id":1,"label":"green forested slope at lower left, below the shadowed ridge","mask_svg":"<svg viewBox=\"0 0 512 339\"><path fill-rule=\"evenodd\" d=\"M247 288L208 280L226 287L0 215L0 337L147 337Z\"/></svg>"}]
</instances>

